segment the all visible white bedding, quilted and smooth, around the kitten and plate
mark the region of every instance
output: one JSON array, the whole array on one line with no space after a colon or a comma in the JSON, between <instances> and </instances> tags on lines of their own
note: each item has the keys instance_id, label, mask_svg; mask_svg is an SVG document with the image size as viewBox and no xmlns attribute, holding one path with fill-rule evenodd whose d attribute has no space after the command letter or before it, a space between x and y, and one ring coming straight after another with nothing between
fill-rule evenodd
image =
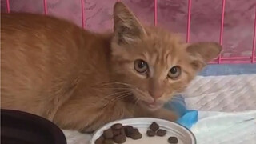
<instances>
[{"instance_id":1,"label":"all visible white bedding, quilted and smooth, around the kitten and plate","mask_svg":"<svg viewBox=\"0 0 256 144\"><path fill-rule=\"evenodd\" d=\"M185 95L188 108L199 110L198 122L191 128L198 144L256 142L256 74L198 77ZM68 144L90 141L88 134L64 133Z\"/></svg>"}]
</instances>

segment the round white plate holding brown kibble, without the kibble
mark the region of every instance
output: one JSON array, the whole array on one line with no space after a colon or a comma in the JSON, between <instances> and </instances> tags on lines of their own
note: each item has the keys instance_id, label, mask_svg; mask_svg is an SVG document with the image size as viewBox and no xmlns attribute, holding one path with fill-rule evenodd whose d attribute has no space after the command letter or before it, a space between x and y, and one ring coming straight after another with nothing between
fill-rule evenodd
<instances>
[{"instance_id":1,"label":"round white plate holding brown kibble, without the kibble","mask_svg":"<svg viewBox=\"0 0 256 144\"><path fill-rule=\"evenodd\" d=\"M152 122L157 122L160 128L167 130L167 134L164 137L148 137L146 135L146 130ZM196 140L194 138L194 134L191 133L190 130L186 129L183 126L178 125L177 123L158 119L158 118L127 118L114 122L110 122L105 126L102 126L99 130L97 130L92 139L90 140L90 144L94 144L95 140L99 138L103 131L109 129L114 123L122 123L122 125L126 126L134 126L138 128L140 133L142 133L142 138L138 140L133 140L131 138L127 138L125 144L169 144L168 138L170 136L174 136L178 138L178 144L196 144Z\"/></svg>"}]
</instances>

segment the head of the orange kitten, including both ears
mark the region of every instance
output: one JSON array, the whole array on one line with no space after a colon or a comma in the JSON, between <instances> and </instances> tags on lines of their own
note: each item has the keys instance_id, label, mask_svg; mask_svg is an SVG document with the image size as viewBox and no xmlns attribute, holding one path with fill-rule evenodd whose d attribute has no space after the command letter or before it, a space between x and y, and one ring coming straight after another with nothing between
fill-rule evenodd
<instances>
[{"instance_id":1,"label":"head of the orange kitten, including both ears","mask_svg":"<svg viewBox=\"0 0 256 144\"><path fill-rule=\"evenodd\" d=\"M182 92L222 50L218 43L182 43L166 30L142 26L121 2L114 6L111 48L118 81L130 85L138 103L149 110Z\"/></svg>"}]
</instances>

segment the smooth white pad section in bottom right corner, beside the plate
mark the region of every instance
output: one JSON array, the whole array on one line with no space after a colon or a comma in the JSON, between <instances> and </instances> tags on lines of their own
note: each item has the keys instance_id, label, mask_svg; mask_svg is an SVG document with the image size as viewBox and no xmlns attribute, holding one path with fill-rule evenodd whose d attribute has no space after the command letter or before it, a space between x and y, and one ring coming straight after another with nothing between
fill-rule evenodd
<instances>
[{"instance_id":1,"label":"smooth white pad section in bottom right corner, beside the plate","mask_svg":"<svg viewBox=\"0 0 256 144\"><path fill-rule=\"evenodd\" d=\"M199 112L191 128L198 144L255 144L256 110L239 113Z\"/></svg>"}]
</instances>

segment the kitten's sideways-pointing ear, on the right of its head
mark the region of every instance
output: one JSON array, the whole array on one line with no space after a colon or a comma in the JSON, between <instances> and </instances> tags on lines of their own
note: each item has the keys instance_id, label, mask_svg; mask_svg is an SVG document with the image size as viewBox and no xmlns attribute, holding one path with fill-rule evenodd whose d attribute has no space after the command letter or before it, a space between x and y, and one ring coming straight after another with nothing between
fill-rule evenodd
<instances>
[{"instance_id":1,"label":"kitten's sideways-pointing ear, on the right of its head","mask_svg":"<svg viewBox=\"0 0 256 144\"><path fill-rule=\"evenodd\" d=\"M191 64L196 70L202 70L204 66L222 51L222 46L217 42L197 42L186 47L190 54Z\"/></svg>"}]
</instances>

